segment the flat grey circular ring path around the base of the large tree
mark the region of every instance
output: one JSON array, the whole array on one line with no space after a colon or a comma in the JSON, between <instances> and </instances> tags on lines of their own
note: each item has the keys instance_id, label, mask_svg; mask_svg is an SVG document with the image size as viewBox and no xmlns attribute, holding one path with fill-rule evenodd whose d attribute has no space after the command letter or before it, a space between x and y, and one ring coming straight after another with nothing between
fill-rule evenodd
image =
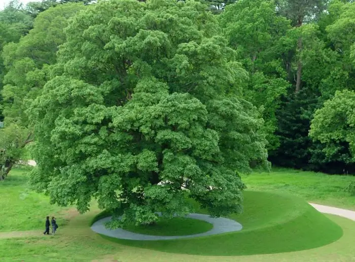
<instances>
[{"instance_id":1,"label":"flat grey circular ring path around the base of the large tree","mask_svg":"<svg viewBox=\"0 0 355 262\"><path fill-rule=\"evenodd\" d=\"M205 237L211 235L218 235L228 232L235 232L240 231L242 229L242 225L238 222L224 217L213 218L209 215L202 215L202 214L189 214L185 216L187 218L199 219L211 223L213 228L207 232L195 234L195 235L188 235L188 236L151 236L151 235L144 235L144 234L137 234L133 232L129 232L127 230L123 230L122 228L118 228L116 230L110 230L105 227L105 223L111 220L110 217L106 217L100 220L97 220L91 226L91 229L101 235L112 237L112 238L119 238L119 239L129 239L129 240L169 240L169 239L182 239L182 238L197 238L197 237Z\"/></svg>"}]
</instances>

